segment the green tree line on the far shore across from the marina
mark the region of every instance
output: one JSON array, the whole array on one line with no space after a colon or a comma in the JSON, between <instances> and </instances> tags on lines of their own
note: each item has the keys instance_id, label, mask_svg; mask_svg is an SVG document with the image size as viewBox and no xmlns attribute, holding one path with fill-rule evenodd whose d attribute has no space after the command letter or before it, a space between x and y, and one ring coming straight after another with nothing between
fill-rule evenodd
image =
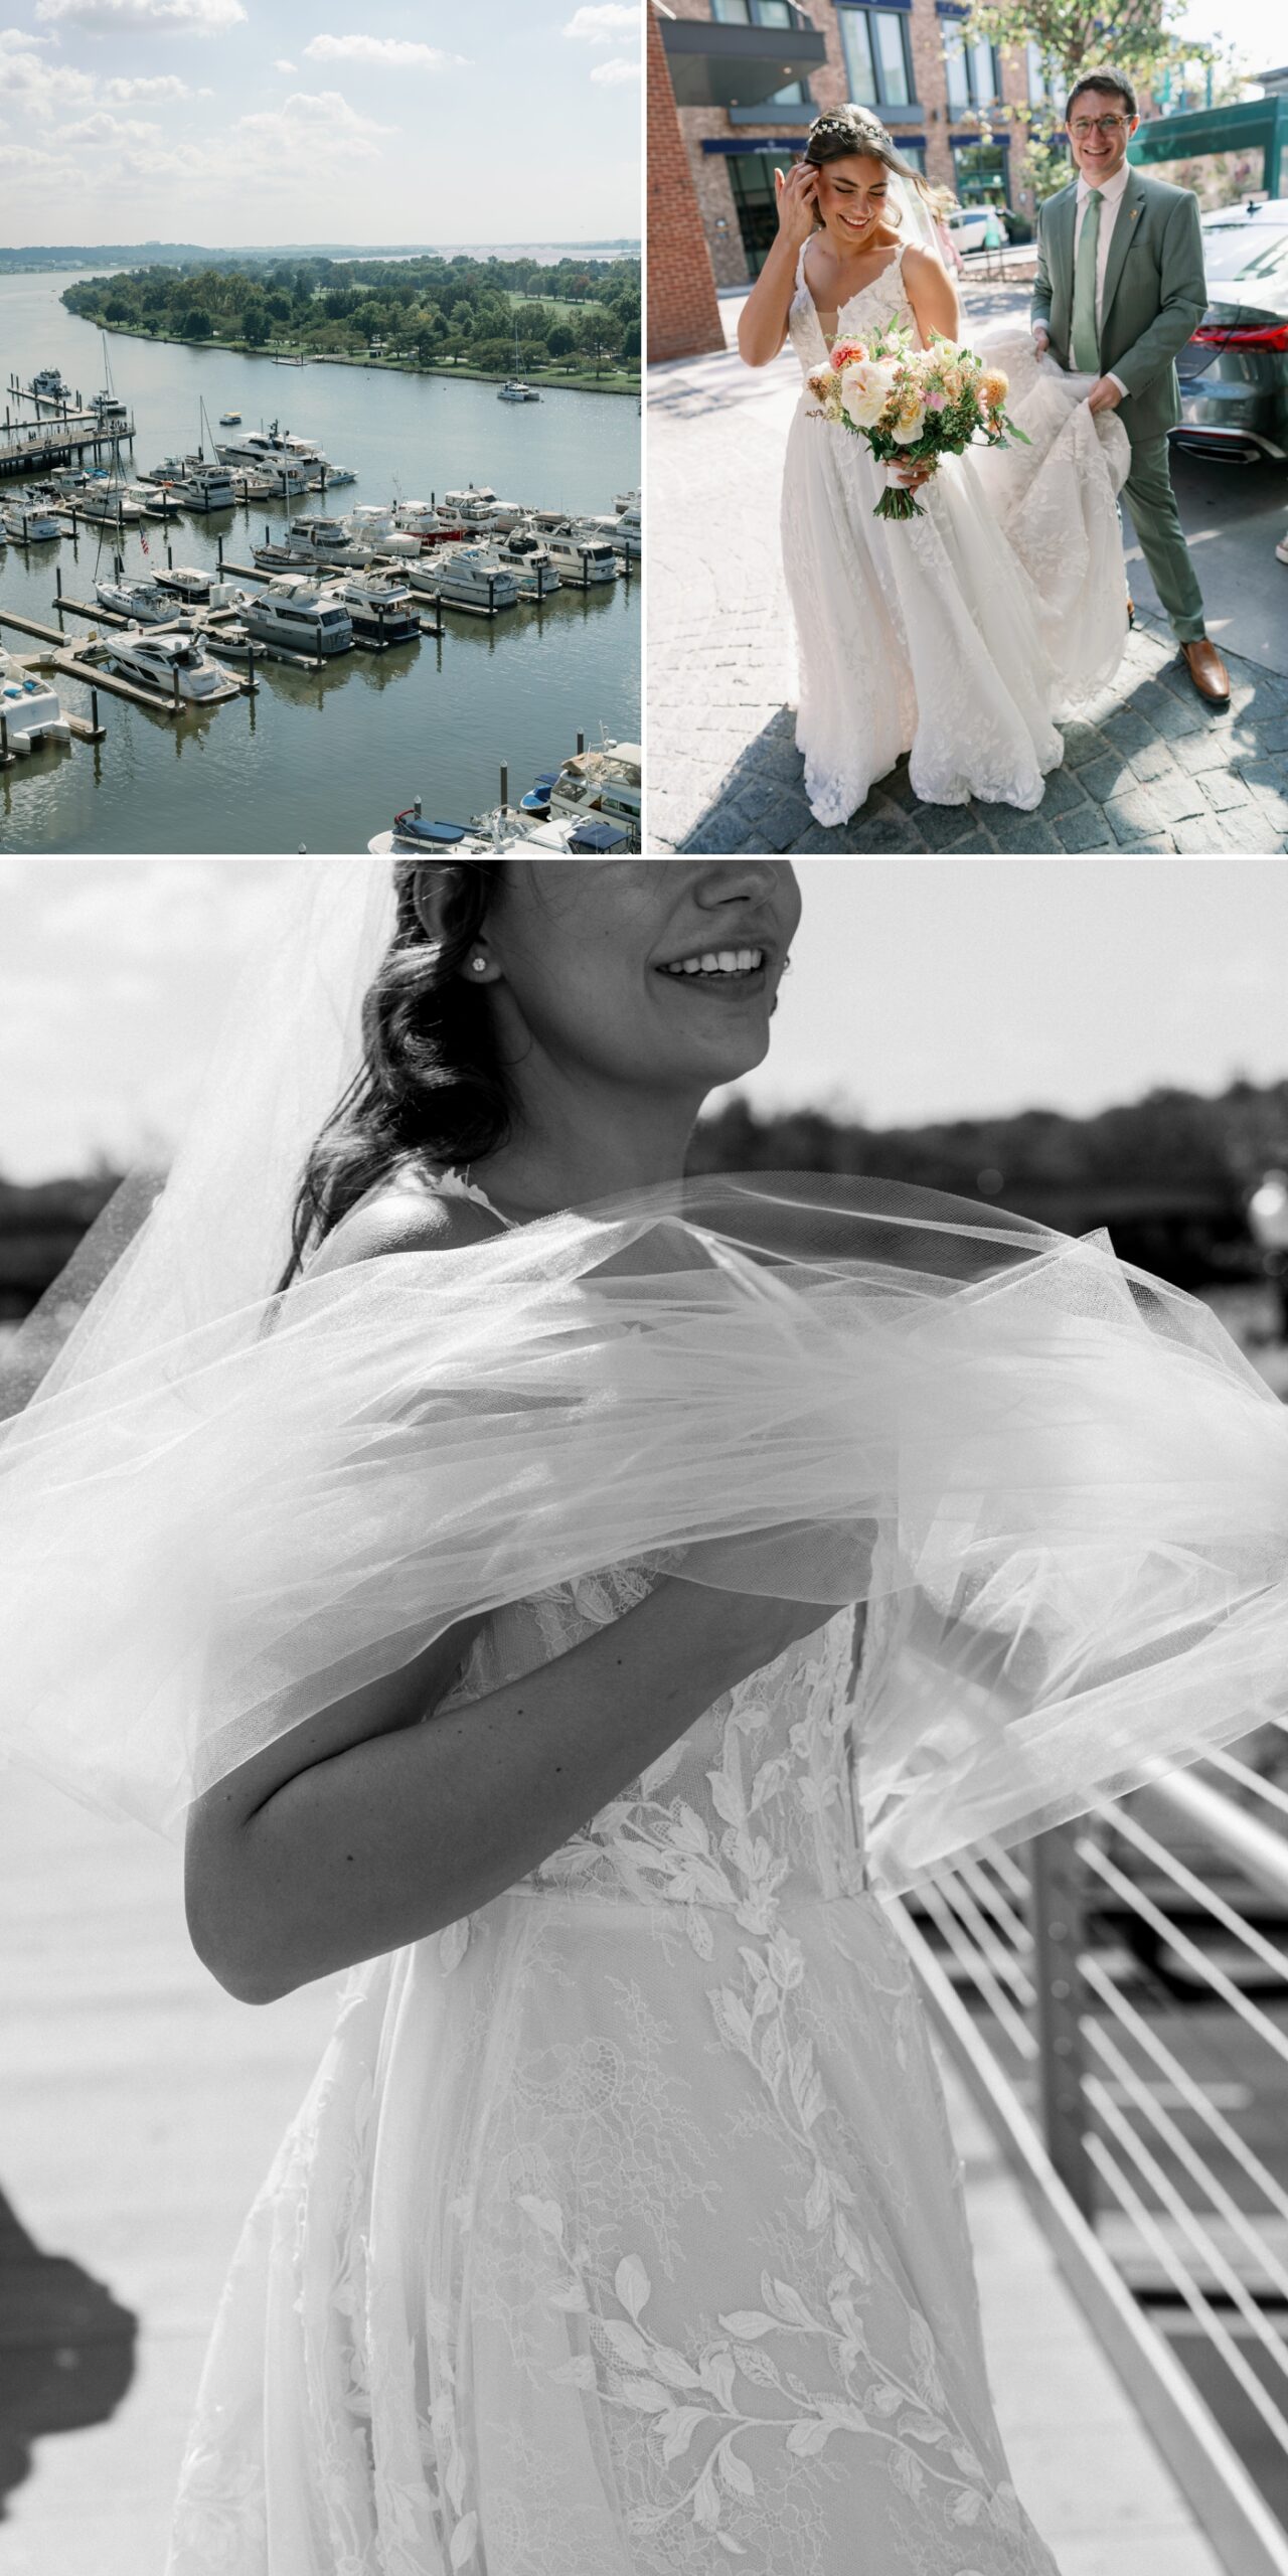
<instances>
[{"instance_id":1,"label":"green tree line on the far shore across from the marina","mask_svg":"<svg viewBox=\"0 0 1288 2576\"><path fill-rule=\"evenodd\" d=\"M250 260L134 268L82 278L62 301L88 322L167 340L289 348L301 355L379 353L412 366L515 363L639 371L641 268L634 258L477 260Z\"/></svg>"}]
</instances>

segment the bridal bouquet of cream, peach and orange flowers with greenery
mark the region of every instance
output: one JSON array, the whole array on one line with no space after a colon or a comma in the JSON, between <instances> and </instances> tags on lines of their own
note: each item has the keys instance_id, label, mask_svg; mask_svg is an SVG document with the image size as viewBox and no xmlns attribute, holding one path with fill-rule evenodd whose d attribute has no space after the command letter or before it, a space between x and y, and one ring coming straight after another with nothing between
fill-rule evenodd
<instances>
[{"instance_id":1,"label":"bridal bouquet of cream, peach and orange flowers with greenery","mask_svg":"<svg viewBox=\"0 0 1288 2576\"><path fill-rule=\"evenodd\" d=\"M984 366L974 348L930 335L930 348L914 348L907 322L889 322L868 340L837 340L829 366L817 366L809 389L817 420L866 438L886 466L889 489L873 518L925 518L925 510L894 471L938 469L940 456L961 456L974 438L1007 448L1012 438L1030 446L1028 433L1007 420L1007 376ZM1007 435L1010 433L1010 435Z\"/></svg>"}]
</instances>

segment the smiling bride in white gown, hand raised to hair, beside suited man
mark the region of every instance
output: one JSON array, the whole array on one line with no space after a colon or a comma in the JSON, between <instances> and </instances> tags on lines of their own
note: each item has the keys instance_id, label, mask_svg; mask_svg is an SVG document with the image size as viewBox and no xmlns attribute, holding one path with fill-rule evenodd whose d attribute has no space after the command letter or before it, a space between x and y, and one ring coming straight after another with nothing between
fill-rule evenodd
<instances>
[{"instance_id":1,"label":"smiling bride in white gown, hand raised to hair, beside suited man","mask_svg":"<svg viewBox=\"0 0 1288 2576\"><path fill-rule=\"evenodd\" d=\"M778 240L747 296L739 350L765 366L791 337L809 374L837 337L907 322L961 337L925 183L866 108L809 131L778 173ZM984 350L984 337L971 332ZM1064 757L1054 716L1103 688L1126 641L1115 492L1126 430L1087 410L1090 379L989 330L1007 412L1030 446L971 448L907 471L925 518L878 520L881 469L809 384L783 469L783 567L799 636L796 744L824 827L848 822L909 752L927 804L1033 809Z\"/></svg>"}]
</instances>

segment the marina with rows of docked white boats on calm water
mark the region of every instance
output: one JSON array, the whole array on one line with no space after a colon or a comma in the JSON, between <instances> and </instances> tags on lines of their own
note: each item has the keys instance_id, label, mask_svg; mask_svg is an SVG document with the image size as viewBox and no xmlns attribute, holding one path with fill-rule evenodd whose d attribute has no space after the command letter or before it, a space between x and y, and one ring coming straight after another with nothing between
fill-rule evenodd
<instances>
[{"instance_id":1,"label":"marina with rows of docked white boats on calm water","mask_svg":"<svg viewBox=\"0 0 1288 2576\"><path fill-rule=\"evenodd\" d=\"M477 817L502 762L528 786L639 734L634 404L309 366L286 417L270 361L131 337L108 412L62 283L0 281L26 389L0 435L62 443L0 484L0 513L57 526L0 546L0 649L44 647L62 708L0 765L0 850L361 850L415 796ZM36 402L41 376L62 394ZM211 477L219 507L193 507Z\"/></svg>"}]
</instances>

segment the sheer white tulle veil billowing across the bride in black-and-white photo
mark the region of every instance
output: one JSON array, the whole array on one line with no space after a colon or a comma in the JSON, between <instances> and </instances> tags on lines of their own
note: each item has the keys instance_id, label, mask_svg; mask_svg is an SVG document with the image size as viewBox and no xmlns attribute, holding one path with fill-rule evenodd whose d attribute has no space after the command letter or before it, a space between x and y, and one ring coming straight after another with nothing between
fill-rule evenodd
<instances>
[{"instance_id":1,"label":"sheer white tulle veil billowing across the bride in black-and-white photo","mask_svg":"<svg viewBox=\"0 0 1288 2576\"><path fill-rule=\"evenodd\" d=\"M711 1177L278 1298L389 927L386 868L299 863L167 1182L18 1340L5 1754L173 1829L459 1618L618 1561L866 1602L886 1888L1288 1713L1285 1417L1105 1236Z\"/></svg>"}]
</instances>

